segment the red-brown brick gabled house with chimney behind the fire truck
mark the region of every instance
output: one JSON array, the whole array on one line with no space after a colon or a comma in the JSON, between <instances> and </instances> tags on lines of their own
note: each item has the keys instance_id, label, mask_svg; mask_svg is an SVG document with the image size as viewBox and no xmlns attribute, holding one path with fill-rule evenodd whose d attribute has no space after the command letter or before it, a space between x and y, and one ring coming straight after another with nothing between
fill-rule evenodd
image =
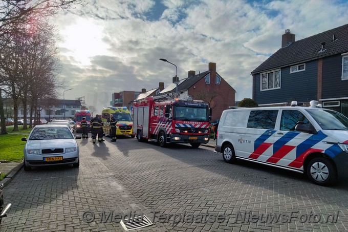
<instances>
[{"instance_id":1,"label":"red-brown brick gabled house with chimney behind the fire truck","mask_svg":"<svg viewBox=\"0 0 348 232\"><path fill-rule=\"evenodd\" d=\"M216 72L216 64L209 62L208 70L199 74L188 71L188 77L179 80L173 77L173 82L160 94L175 94L178 81L180 98L192 96L195 100L204 100L212 108L212 120L220 119L222 112L234 106L235 90Z\"/></svg>"}]
</instances>

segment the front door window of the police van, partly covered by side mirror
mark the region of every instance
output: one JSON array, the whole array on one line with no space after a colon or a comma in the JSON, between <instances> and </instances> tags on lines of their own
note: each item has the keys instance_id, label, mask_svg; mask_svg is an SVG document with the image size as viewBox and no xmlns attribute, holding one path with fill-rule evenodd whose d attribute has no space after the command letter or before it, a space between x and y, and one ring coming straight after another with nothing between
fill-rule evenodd
<instances>
[{"instance_id":1,"label":"front door window of the police van, partly covered by side mirror","mask_svg":"<svg viewBox=\"0 0 348 232\"><path fill-rule=\"evenodd\" d=\"M298 121L303 121L309 128L309 120L301 112L297 110L284 110L281 113L280 130L295 131L295 126Z\"/></svg>"}]
</instances>

